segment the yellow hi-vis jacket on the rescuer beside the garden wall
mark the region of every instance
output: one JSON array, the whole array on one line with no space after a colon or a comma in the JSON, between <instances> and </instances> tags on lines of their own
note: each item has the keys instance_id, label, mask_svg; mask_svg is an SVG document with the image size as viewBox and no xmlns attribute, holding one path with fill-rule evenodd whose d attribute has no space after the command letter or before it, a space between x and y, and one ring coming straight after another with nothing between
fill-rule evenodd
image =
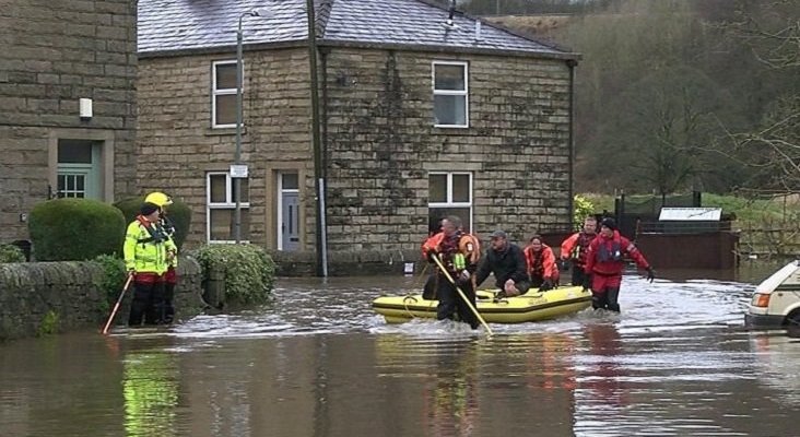
<instances>
[{"instance_id":1,"label":"yellow hi-vis jacket on the rescuer beside the garden wall","mask_svg":"<svg viewBox=\"0 0 800 437\"><path fill-rule=\"evenodd\" d=\"M137 217L125 233L125 268L137 273L164 274L177 253L175 241L155 223Z\"/></svg>"}]
</instances>

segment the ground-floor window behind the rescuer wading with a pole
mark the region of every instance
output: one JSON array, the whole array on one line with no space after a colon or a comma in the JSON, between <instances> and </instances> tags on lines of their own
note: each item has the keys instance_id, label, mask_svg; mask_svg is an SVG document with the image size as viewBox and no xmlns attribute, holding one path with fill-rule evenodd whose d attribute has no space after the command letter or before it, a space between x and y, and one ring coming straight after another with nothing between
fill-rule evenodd
<instances>
[{"instance_id":1,"label":"ground-floor window behind the rescuer wading with a pole","mask_svg":"<svg viewBox=\"0 0 800 437\"><path fill-rule=\"evenodd\" d=\"M428 232L439 232L442 218L457 215L467 232L472 229L472 174L431 173L428 187Z\"/></svg>"}]
</instances>

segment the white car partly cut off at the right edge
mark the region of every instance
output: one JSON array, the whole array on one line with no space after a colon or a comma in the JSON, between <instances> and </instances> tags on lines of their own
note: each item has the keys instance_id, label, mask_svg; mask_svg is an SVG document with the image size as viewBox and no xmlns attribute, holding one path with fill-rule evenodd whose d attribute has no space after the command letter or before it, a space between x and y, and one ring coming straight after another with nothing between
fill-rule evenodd
<instances>
[{"instance_id":1,"label":"white car partly cut off at the right edge","mask_svg":"<svg viewBox=\"0 0 800 437\"><path fill-rule=\"evenodd\" d=\"M800 327L800 260L784 265L755 287L744 322L755 327Z\"/></svg>"}]
</instances>

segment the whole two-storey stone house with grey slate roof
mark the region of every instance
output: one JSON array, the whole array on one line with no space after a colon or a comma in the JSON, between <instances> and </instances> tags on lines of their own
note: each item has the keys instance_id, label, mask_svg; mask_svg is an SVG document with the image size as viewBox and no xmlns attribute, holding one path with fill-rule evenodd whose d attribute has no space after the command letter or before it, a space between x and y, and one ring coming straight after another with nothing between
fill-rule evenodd
<instances>
[{"instance_id":1,"label":"whole two-storey stone house with grey slate roof","mask_svg":"<svg viewBox=\"0 0 800 437\"><path fill-rule=\"evenodd\" d=\"M239 21L243 240L398 251L447 214L517 240L570 225L576 54L424 0L313 12L309 44L305 0L139 1L138 182L192 206L188 244L235 238Z\"/></svg>"}]
</instances>

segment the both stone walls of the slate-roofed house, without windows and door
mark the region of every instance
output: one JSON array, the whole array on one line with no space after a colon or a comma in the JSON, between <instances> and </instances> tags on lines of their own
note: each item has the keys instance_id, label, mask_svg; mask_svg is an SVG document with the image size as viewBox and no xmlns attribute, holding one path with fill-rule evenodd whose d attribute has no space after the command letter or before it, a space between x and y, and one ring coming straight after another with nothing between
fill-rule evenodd
<instances>
[{"instance_id":1,"label":"both stone walls of the slate-roofed house, without windows and door","mask_svg":"<svg viewBox=\"0 0 800 437\"><path fill-rule=\"evenodd\" d=\"M187 245L205 241L205 175L227 170L234 129L211 129L211 71L228 54L142 58L139 184L195 210ZM305 47L245 50L242 156L250 241L277 244L277 175L299 176L301 251L316 250ZM470 126L433 126L432 62L469 62ZM428 173L470 172L472 232L526 241L570 227L570 70L529 56L325 47L320 101L329 255L416 250L428 232ZM346 257L346 255L344 255Z\"/></svg>"}]
</instances>

